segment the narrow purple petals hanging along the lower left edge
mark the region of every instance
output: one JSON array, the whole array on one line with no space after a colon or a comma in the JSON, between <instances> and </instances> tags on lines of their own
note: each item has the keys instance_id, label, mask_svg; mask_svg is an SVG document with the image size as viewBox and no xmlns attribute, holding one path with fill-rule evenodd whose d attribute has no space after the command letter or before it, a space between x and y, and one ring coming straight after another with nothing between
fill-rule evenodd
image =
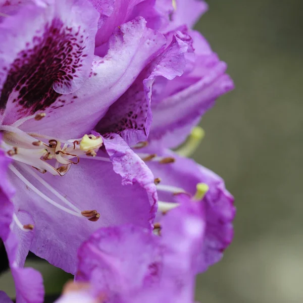
<instances>
[{"instance_id":1,"label":"narrow purple petals hanging along the lower left edge","mask_svg":"<svg viewBox=\"0 0 303 303\"><path fill-rule=\"evenodd\" d=\"M32 268L23 268L28 247L32 240L32 233L27 233L31 225L21 227L24 230L22 243L18 242L17 234L20 232L13 217L14 206L11 199L14 196L14 188L7 181L6 175L11 160L0 150L0 238L4 241L7 250L10 268L15 281L17 302L42 303L44 297L43 281L41 275ZM20 213L20 220L31 222L27 213ZM17 221L19 223L19 221ZM12 300L0 291L2 303Z\"/></svg>"}]
</instances>

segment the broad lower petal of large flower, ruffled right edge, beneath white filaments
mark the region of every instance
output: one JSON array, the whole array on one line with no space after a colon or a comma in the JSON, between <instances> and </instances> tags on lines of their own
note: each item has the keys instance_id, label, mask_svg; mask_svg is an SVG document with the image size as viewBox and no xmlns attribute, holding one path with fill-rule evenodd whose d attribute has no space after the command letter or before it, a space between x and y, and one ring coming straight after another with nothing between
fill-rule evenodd
<instances>
[{"instance_id":1,"label":"broad lower petal of large flower, ruffled right edge, beneath white filaments","mask_svg":"<svg viewBox=\"0 0 303 303\"><path fill-rule=\"evenodd\" d=\"M126 223L150 228L155 217L157 193L153 175L147 166L122 142L122 138L104 141L108 153L99 151L98 156L110 156L109 162L93 160L92 157L81 158L79 164L72 166L64 177L41 175L53 192L56 190L66 197L80 211L96 210L100 214L97 222L81 215L74 216L47 203L32 191L33 186L69 208L29 175L24 167L16 165L31 186L11 175L18 188L14 198L15 208L28 211L33 217L35 234L30 250L73 274L76 271L77 248L94 230ZM78 215L80 211L76 211Z\"/></svg>"}]
</instances>

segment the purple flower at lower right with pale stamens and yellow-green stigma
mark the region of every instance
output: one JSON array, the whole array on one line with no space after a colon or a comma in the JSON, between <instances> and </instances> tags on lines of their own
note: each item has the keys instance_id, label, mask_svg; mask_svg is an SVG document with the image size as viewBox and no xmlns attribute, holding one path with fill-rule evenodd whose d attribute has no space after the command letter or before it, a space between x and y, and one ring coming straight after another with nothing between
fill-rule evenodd
<instances>
[{"instance_id":1,"label":"purple flower at lower right with pale stamens and yellow-green stigma","mask_svg":"<svg viewBox=\"0 0 303 303\"><path fill-rule=\"evenodd\" d=\"M193 160L180 157L165 149L153 147L141 149L138 154L156 177L158 190L158 215L169 212L190 201L200 201L205 210L206 232L198 256L197 272L221 260L224 250L233 238L232 221L235 216L233 197L226 190L224 181L214 172L196 164ZM177 152L181 152L182 149Z\"/></svg>"}]
</instances>

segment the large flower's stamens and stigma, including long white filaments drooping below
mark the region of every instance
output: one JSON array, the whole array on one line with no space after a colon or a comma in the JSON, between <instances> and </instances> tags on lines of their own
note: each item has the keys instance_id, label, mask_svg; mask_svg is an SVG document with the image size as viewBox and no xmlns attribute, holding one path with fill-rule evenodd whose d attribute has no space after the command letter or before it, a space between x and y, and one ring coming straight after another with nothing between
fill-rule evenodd
<instances>
[{"instance_id":1,"label":"large flower's stamens and stigma, including long white filaments drooping below","mask_svg":"<svg viewBox=\"0 0 303 303\"><path fill-rule=\"evenodd\" d=\"M79 163L81 158L95 157L98 149L103 145L103 139L100 136L84 135L80 139L63 140L45 136L38 133L28 133L22 131L19 126L29 119L40 120L45 116L44 113L22 118L12 125L0 125L2 141L0 149L6 152L7 157L13 159L9 166L11 172L17 176L28 188L39 195L47 203L52 204L58 209L77 217L85 217L90 221L97 221L100 215L95 210L81 211L75 207L69 200L56 191L48 184L39 173L51 173L54 176L64 176L70 169L71 165ZM96 157L101 158L101 157ZM104 161L108 159L105 158ZM59 199L61 203L56 202L49 195L44 194L35 187L21 172L20 168L28 175L36 179L44 189L50 191ZM62 202L67 206L63 206ZM14 221L20 227L16 215ZM31 230L32 228L26 228Z\"/></svg>"}]
</instances>

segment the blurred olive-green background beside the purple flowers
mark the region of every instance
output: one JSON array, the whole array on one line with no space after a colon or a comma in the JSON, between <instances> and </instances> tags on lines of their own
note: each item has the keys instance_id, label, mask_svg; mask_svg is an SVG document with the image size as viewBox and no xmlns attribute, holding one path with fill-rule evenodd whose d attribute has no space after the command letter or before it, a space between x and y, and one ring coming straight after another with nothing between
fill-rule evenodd
<instances>
[{"instance_id":1,"label":"blurred olive-green background beside the purple flowers","mask_svg":"<svg viewBox=\"0 0 303 303\"><path fill-rule=\"evenodd\" d=\"M194 158L226 180L237 217L232 245L198 278L196 297L302 303L303 1L208 3L196 28L228 63L236 89L201 121L206 137ZM61 291L68 275L46 263L34 266L48 293Z\"/></svg>"}]
</instances>

